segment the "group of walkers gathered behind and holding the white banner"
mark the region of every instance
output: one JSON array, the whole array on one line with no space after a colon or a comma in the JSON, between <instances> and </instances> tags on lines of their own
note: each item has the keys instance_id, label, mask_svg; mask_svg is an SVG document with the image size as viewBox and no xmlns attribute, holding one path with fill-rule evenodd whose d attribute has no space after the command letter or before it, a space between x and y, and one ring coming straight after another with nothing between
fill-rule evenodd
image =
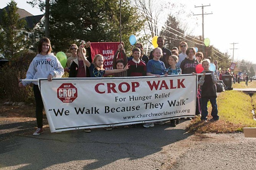
<instances>
[{"instance_id":1,"label":"group of walkers gathered behind and holding the white banner","mask_svg":"<svg viewBox=\"0 0 256 170\"><path fill-rule=\"evenodd\" d=\"M188 44L186 42L180 42L180 54L177 47L173 47L172 50L164 47L164 37L158 37L157 44L158 47L152 50L149 57L143 54L143 44L141 43L137 43L135 45L135 48L132 50L131 57L126 57L124 44L119 44L118 50L113 58L113 70L105 70L103 68L104 58L100 54L96 54L92 60L89 50L90 42L83 42L79 47L76 44L71 44L69 51L72 55L67 60L67 67L65 68L65 71L68 71L69 77L73 78L102 77L105 74L114 74L115 77L156 76L159 78L162 75L195 74L196 65L202 63L204 71L198 82L201 86L201 120L207 121L207 102L209 100L212 104L212 120L218 120L219 116L217 115L217 94L215 87L215 84L217 83L217 76L214 71L209 70L209 59L203 59L203 53L196 53L193 47L188 48ZM86 49L88 49L88 55L86 55ZM42 38L39 41L38 54L29 66L26 79L48 78L48 81L52 81L53 77L61 77L63 75L64 69L51 51L52 48L50 40L46 37ZM53 64L47 64L49 62L46 61L52 61ZM211 74L208 75L206 73ZM29 83L31 82L22 81L19 83L19 86L26 86ZM36 98L36 118L38 127L33 135L37 136L43 132L43 103L37 82L32 83L34 84L33 89L34 96ZM199 110L197 102L197 115L200 114ZM163 125L165 122L158 121L154 123ZM154 123L144 123L143 126L145 128L154 127ZM171 126L174 127L178 123L178 119L173 119L170 123ZM112 130L111 127L105 129ZM85 129L84 131L91 132L91 129Z\"/></svg>"}]
</instances>

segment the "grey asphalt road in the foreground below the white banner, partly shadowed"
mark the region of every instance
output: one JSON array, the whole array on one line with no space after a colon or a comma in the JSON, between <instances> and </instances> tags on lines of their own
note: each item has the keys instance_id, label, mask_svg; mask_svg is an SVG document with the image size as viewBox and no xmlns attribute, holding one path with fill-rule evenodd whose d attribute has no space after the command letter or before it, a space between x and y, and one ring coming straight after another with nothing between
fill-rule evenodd
<instances>
[{"instance_id":1,"label":"grey asphalt road in the foreground below the white banner, partly shadowed","mask_svg":"<svg viewBox=\"0 0 256 170\"><path fill-rule=\"evenodd\" d=\"M254 170L256 139L175 128L45 131L0 142L1 170Z\"/></svg>"}]
</instances>

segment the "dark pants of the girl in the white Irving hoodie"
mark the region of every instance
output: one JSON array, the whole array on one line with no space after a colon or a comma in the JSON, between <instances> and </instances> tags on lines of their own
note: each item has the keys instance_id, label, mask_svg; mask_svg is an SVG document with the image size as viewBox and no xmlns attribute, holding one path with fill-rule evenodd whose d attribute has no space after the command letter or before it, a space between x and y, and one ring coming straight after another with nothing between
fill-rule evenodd
<instances>
[{"instance_id":1,"label":"dark pants of the girl in the white Irving hoodie","mask_svg":"<svg viewBox=\"0 0 256 170\"><path fill-rule=\"evenodd\" d=\"M33 91L34 91L34 96L36 99L36 122L37 122L37 127L42 128L43 127L43 100L41 97L41 93L39 91L38 85L33 86Z\"/></svg>"}]
</instances>

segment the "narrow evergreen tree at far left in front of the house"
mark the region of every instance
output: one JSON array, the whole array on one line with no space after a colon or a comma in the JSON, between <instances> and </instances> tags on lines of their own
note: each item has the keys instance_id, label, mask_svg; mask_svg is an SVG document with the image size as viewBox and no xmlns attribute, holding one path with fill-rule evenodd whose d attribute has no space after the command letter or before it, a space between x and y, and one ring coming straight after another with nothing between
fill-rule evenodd
<instances>
[{"instance_id":1,"label":"narrow evergreen tree at far left in front of the house","mask_svg":"<svg viewBox=\"0 0 256 170\"><path fill-rule=\"evenodd\" d=\"M16 13L18 10L17 3L14 0L11 0L7 9L4 9L0 16L0 25L3 28L0 33L2 41L0 51L6 58L13 58L24 47L24 34L21 30L26 21L19 19L19 15Z\"/></svg>"}]
</instances>

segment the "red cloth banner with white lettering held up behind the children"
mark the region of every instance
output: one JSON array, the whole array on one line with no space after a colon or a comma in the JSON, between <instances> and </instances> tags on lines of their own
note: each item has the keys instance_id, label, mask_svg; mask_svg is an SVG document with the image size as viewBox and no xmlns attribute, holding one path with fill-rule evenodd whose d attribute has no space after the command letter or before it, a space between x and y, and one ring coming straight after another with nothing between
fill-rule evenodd
<instances>
[{"instance_id":1,"label":"red cloth banner with white lettering held up behind the children","mask_svg":"<svg viewBox=\"0 0 256 170\"><path fill-rule=\"evenodd\" d=\"M113 58L120 42L91 42L92 60L96 54L104 57L105 70L113 70Z\"/></svg>"}]
</instances>

